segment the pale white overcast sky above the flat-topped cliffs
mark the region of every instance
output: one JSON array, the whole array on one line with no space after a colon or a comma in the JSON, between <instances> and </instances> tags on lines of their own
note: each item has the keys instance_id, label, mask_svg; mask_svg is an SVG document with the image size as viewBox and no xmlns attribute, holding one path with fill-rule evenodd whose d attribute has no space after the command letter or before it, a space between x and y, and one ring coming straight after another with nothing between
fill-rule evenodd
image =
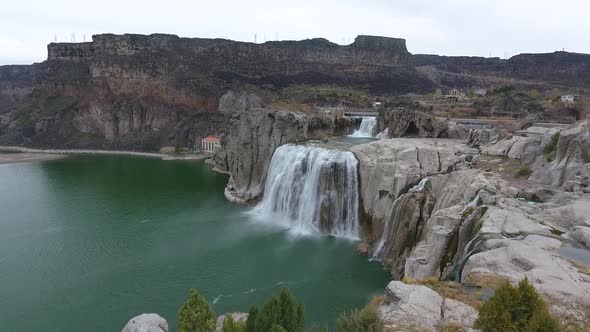
<instances>
[{"instance_id":1,"label":"pale white overcast sky above the flat-topped cliffs","mask_svg":"<svg viewBox=\"0 0 590 332\"><path fill-rule=\"evenodd\" d=\"M49 42L98 33L338 44L369 34L405 38L415 54L590 53L590 0L6 0L0 64L40 62Z\"/></svg>"}]
</instances>

